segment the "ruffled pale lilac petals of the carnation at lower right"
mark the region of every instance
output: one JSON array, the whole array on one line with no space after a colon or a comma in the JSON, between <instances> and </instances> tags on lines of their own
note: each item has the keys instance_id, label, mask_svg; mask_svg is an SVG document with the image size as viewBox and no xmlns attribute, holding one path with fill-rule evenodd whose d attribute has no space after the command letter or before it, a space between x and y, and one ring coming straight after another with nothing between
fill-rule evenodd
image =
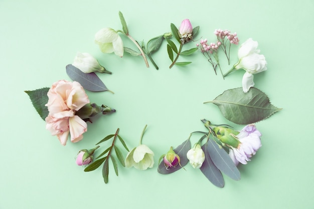
<instances>
[{"instance_id":1,"label":"ruffled pale lilac petals of the carnation at lower right","mask_svg":"<svg viewBox=\"0 0 314 209\"><path fill-rule=\"evenodd\" d=\"M256 151L262 146L260 136L262 134L256 129L254 124L245 126L236 137L240 141L237 148L231 147L229 156L235 165L239 162L247 164L250 157L256 154Z\"/></svg>"}]
</instances>

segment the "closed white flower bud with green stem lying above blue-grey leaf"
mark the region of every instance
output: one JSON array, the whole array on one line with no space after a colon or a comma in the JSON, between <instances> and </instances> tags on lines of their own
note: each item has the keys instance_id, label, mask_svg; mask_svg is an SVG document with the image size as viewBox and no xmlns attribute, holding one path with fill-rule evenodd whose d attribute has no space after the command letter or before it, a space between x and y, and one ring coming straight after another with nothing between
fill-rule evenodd
<instances>
[{"instance_id":1,"label":"closed white flower bud with green stem lying above blue-grey leaf","mask_svg":"<svg viewBox=\"0 0 314 209\"><path fill-rule=\"evenodd\" d=\"M102 67L93 56L88 53L78 52L76 57L74 58L72 65L80 69L83 73L109 72L104 67Z\"/></svg>"}]
</instances>

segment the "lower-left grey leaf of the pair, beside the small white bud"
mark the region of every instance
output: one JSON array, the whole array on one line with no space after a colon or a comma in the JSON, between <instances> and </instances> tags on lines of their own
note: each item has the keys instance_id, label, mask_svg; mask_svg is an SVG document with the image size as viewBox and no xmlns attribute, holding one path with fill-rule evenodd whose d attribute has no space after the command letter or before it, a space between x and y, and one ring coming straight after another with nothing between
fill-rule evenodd
<instances>
[{"instance_id":1,"label":"lower-left grey leaf of the pair, beside the small white bud","mask_svg":"<svg viewBox=\"0 0 314 209\"><path fill-rule=\"evenodd\" d=\"M205 153L205 161L203 162L202 167L200 167L200 170L208 178L208 180L210 180L210 182L212 182L215 186L222 188L225 185L224 177L210 158L207 147L208 143L202 146L202 149Z\"/></svg>"}]
</instances>

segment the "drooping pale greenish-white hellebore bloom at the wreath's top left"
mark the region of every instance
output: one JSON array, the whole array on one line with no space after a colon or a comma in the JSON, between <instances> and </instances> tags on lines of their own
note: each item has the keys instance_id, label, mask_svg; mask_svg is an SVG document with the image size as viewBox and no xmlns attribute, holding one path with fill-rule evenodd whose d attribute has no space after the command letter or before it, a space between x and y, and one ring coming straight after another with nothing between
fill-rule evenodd
<instances>
[{"instance_id":1,"label":"drooping pale greenish-white hellebore bloom at the wreath's top left","mask_svg":"<svg viewBox=\"0 0 314 209\"><path fill-rule=\"evenodd\" d=\"M119 57L123 56L123 42L118 33L111 28L104 28L98 31L95 35L95 43L99 45L103 53L116 54Z\"/></svg>"}]
</instances>

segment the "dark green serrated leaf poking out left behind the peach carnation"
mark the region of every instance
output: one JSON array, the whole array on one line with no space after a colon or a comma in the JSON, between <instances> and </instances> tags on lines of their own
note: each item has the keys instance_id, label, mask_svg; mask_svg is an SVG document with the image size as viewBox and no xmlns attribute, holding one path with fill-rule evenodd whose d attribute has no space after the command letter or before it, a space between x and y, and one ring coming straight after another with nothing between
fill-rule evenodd
<instances>
[{"instance_id":1,"label":"dark green serrated leaf poking out left behind the peach carnation","mask_svg":"<svg viewBox=\"0 0 314 209\"><path fill-rule=\"evenodd\" d=\"M49 111L48 107L45 106L45 104L48 103L48 96L47 93L49 91L48 87L42 88L42 89L36 89L34 91L24 91L27 93L33 103L33 106L35 107L36 111L40 115L40 117L45 120L45 118L48 116Z\"/></svg>"}]
</instances>

